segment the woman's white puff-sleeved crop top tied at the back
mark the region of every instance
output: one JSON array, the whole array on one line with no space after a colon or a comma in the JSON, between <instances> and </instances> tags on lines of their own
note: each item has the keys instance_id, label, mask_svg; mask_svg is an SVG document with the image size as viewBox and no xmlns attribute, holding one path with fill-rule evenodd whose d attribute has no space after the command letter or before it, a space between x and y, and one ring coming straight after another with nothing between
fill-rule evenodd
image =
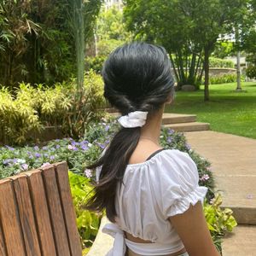
<instances>
[{"instance_id":1,"label":"woman's white puff-sleeved crop top tied at the back","mask_svg":"<svg viewBox=\"0 0 256 256\"><path fill-rule=\"evenodd\" d=\"M117 223L107 224L102 230L115 238L108 255L125 255L125 245L140 255L167 255L181 250L183 242L168 218L203 201L207 188L200 187L198 181L195 162L176 149L128 165L117 189ZM129 241L123 231L153 243Z\"/></svg>"}]
</instances>

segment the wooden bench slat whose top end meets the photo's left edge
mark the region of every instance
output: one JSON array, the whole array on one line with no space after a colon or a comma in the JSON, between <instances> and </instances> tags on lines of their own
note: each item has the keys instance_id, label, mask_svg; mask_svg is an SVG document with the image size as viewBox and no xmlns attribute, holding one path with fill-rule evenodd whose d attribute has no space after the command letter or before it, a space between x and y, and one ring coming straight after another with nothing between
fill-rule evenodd
<instances>
[{"instance_id":1,"label":"wooden bench slat whose top end meets the photo's left edge","mask_svg":"<svg viewBox=\"0 0 256 256\"><path fill-rule=\"evenodd\" d=\"M0 216L7 255L26 256L12 181L0 183Z\"/></svg>"}]
</instances>

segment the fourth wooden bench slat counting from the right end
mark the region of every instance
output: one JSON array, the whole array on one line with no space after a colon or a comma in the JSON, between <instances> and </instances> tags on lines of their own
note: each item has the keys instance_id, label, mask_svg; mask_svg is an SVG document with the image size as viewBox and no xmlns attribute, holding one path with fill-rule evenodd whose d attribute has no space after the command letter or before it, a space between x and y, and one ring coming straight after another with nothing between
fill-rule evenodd
<instances>
[{"instance_id":1,"label":"fourth wooden bench slat counting from the right end","mask_svg":"<svg viewBox=\"0 0 256 256\"><path fill-rule=\"evenodd\" d=\"M15 195L19 207L20 224L25 241L26 254L27 256L40 256L41 252L33 215L32 201L26 181L27 177L22 175L12 177L12 179L14 181Z\"/></svg>"}]
</instances>

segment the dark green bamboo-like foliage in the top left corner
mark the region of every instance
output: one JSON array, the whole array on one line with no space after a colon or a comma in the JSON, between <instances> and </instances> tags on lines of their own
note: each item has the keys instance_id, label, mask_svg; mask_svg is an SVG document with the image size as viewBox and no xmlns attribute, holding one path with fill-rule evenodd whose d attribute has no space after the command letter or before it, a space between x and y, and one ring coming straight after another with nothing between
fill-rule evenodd
<instances>
[{"instance_id":1,"label":"dark green bamboo-like foliage in the top left corner","mask_svg":"<svg viewBox=\"0 0 256 256\"><path fill-rule=\"evenodd\" d=\"M88 43L102 1L82 1ZM75 1L5 1L0 3L0 84L62 82L75 74ZM75 17L78 17L76 15ZM81 22L79 23L81 24ZM83 58L84 60L84 58Z\"/></svg>"}]
</instances>

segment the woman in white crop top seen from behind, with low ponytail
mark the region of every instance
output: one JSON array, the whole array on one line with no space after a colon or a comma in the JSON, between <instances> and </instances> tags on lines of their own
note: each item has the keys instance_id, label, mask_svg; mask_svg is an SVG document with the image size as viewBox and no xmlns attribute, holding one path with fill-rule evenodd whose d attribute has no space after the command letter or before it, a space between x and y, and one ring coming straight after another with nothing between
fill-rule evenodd
<instances>
[{"instance_id":1,"label":"woman in white crop top seen from behind, with low ponytail","mask_svg":"<svg viewBox=\"0 0 256 256\"><path fill-rule=\"evenodd\" d=\"M105 62L104 96L122 116L120 131L101 159L87 208L106 209L115 238L108 255L219 255L201 201L207 188L189 154L161 148L160 125L173 100L166 50L146 43L125 44Z\"/></svg>"}]
</instances>

